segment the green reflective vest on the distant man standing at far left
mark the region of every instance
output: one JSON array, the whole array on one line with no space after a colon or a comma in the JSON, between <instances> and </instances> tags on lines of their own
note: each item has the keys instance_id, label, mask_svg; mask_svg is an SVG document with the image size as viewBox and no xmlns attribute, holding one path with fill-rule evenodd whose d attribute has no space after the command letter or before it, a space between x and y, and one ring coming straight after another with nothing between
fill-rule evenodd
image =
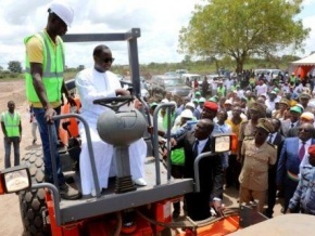
<instances>
[{"instance_id":1,"label":"green reflective vest on the distant man standing at far left","mask_svg":"<svg viewBox=\"0 0 315 236\"><path fill-rule=\"evenodd\" d=\"M14 112L13 116L9 112L1 114L1 120L4 123L8 136L20 136L21 115Z\"/></svg>"}]
</instances>

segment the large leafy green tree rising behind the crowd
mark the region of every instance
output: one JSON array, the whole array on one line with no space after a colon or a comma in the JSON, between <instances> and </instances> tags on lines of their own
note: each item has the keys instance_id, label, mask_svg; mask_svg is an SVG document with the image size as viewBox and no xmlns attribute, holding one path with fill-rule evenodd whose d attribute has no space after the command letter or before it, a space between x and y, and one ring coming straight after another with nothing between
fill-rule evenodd
<instances>
[{"instance_id":1,"label":"large leafy green tree rising behind the crowd","mask_svg":"<svg viewBox=\"0 0 315 236\"><path fill-rule=\"evenodd\" d=\"M204 0L179 32L179 52L203 57L230 56L241 71L250 56L273 61L278 52L303 48L302 0Z\"/></svg>"}]
</instances>

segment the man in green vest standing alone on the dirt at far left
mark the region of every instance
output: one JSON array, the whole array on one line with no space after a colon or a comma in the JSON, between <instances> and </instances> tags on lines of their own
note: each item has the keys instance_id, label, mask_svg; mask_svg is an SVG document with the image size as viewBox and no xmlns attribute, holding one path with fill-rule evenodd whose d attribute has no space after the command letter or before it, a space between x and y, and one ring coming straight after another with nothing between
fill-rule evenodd
<instances>
[{"instance_id":1,"label":"man in green vest standing alone on the dirt at far left","mask_svg":"<svg viewBox=\"0 0 315 236\"><path fill-rule=\"evenodd\" d=\"M8 110L1 114L1 128L4 135L4 167L10 168L11 146L14 148L14 166L20 165L20 142L22 137L21 115L15 112L15 103L8 102Z\"/></svg>"}]
</instances>

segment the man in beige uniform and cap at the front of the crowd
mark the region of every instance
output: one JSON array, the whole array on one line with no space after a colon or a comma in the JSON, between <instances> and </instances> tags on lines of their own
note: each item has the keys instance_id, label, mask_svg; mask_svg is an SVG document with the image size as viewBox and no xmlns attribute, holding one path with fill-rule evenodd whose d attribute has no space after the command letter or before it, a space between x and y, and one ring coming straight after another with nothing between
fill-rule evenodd
<instances>
[{"instance_id":1,"label":"man in beige uniform and cap at the front of the crowd","mask_svg":"<svg viewBox=\"0 0 315 236\"><path fill-rule=\"evenodd\" d=\"M268 134L273 131L270 120L259 119L254 137L244 140L241 148L244 161L239 176L240 204L259 200L260 212L263 212L268 189L268 168L277 160L277 149L267 143Z\"/></svg>"}]
</instances>

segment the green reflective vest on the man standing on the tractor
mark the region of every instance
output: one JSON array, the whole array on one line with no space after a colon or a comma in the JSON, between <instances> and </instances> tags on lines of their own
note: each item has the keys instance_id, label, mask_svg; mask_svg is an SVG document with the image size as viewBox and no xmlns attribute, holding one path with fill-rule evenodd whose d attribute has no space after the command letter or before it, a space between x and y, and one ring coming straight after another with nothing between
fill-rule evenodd
<instances>
[{"instance_id":1,"label":"green reflective vest on the man standing on the tractor","mask_svg":"<svg viewBox=\"0 0 315 236\"><path fill-rule=\"evenodd\" d=\"M38 32L34 36L26 37L24 43L26 44L32 37L37 37L42 44L43 62L42 62L42 82L46 89L47 97L50 103L61 101L61 87L63 83L64 71L64 52L63 41L58 36L55 50L47 32ZM25 79L26 79L26 97L30 103L40 102L33 86L33 78L30 75L29 58L26 53L25 58Z\"/></svg>"}]
</instances>

